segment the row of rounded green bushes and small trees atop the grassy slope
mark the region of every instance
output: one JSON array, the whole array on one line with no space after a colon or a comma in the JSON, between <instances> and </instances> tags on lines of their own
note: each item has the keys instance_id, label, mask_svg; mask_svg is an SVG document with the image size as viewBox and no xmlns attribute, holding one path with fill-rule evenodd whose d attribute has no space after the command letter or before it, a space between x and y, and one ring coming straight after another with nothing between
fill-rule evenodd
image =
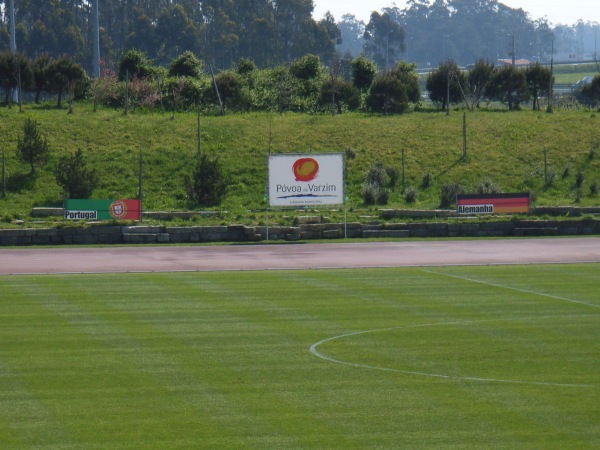
<instances>
[{"instance_id":1,"label":"row of rounded green bushes and small trees atop the grassy slope","mask_svg":"<svg viewBox=\"0 0 600 450\"><path fill-rule=\"evenodd\" d=\"M69 99L87 96L96 104L125 108L162 108L175 114L191 108L218 107L225 111L333 112L363 110L374 113L404 113L421 101L416 65L401 61L379 71L365 56L334 67L326 67L317 55L305 55L288 65L260 69L242 60L231 70L214 74L192 52L173 59L168 68L155 66L142 52L131 50L119 61L117 71L104 69L91 80L83 68L66 57L41 55L30 61L25 55L0 53L0 86L5 100L21 85L35 93L63 94ZM582 91L582 100L600 101L596 77ZM496 66L484 59L468 70L447 60L427 77L429 99L441 106L464 102L470 109L482 101L500 101L509 109L532 101L540 109L540 98L552 93L552 73L539 63L525 68Z\"/></svg>"}]
</instances>

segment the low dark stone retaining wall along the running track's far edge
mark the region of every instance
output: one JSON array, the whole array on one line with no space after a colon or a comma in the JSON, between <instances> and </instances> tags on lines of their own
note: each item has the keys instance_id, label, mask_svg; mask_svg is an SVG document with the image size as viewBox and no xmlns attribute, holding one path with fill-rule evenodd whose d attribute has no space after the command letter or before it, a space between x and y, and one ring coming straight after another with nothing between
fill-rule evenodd
<instances>
[{"instance_id":1,"label":"low dark stone retaining wall along the running track's far edge","mask_svg":"<svg viewBox=\"0 0 600 450\"><path fill-rule=\"evenodd\" d=\"M268 233L268 236L267 236ZM510 222L325 223L282 227L228 226L89 226L0 230L0 245L157 244L261 242L409 237L508 237L600 235L600 219L513 220Z\"/></svg>"}]
</instances>

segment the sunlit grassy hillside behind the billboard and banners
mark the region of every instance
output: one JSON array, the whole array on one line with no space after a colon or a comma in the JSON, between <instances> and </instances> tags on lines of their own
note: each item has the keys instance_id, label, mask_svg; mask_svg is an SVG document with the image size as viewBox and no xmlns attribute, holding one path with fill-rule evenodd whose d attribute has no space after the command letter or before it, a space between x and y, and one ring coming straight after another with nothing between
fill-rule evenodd
<instances>
[{"instance_id":1,"label":"sunlit grassy hillside behind the billboard and banners","mask_svg":"<svg viewBox=\"0 0 600 450\"><path fill-rule=\"evenodd\" d=\"M50 162L36 177L16 158L17 140L26 118L38 122L52 150ZM405 150L406 186L418 191L416 203L407 204L401 179L392 190L388 207L436 208L440 188L459 183L468 192L488 181L501 192L531 191L537 205L596 205L593 194L600 183L600 115L591 111L467 112L467 157L463 152L463 111L449 116L431 110L403 116L338 116L246 114L201 118L202 151L218 156L232 176L229 195L218 210L228 220L252 221L248 211L262 210L267 177L267 155L273 153L344 152L348 160L349 208L366 207L361 185L371 164L402 169ZM0 108L0 150L6 154L7 196L0 198L0 216L28 216L34 206L60 205L61 192L52 172L61 155L82 149L100 173L95 198L135 198L138 194L139 155L143 154L145 210L205 209L190 205L183 177L189 173L197 150L196 114L121 111L93 112L76 105L74 114L51 106ZM547 173L544 182L544 149ZM424 189L424 175L434 183ZM581 186L577 188L579 174ZM581 178L582 177L582 178Z\"/></svg>"}]
</instances>

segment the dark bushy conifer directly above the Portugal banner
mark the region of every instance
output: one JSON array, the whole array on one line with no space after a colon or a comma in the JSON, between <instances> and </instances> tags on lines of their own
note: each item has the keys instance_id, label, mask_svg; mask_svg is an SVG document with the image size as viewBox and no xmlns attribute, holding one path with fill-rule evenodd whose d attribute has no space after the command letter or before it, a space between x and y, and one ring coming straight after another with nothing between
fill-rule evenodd
<instances>
[{"instance_id":1,"label":"dark bushy conifer directly above the Portugal banner","mask_svg":"<svg viewBox=\"0 0 600 450\"><path fill-rule=\"evenodd\" d=\"M62 156L54 169L56 183L67 198L89 198L98 184L98 174L87 168L83 151Z\"/></svg>"}]
</instances>

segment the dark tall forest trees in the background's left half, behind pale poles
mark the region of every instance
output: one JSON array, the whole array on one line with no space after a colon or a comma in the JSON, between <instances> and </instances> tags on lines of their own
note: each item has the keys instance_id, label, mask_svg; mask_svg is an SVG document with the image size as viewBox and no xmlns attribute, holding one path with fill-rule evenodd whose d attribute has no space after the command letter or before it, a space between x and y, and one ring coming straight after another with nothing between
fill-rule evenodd
<instances>
[{"instance_id":1,"label":"dark tall forest trees in the background's left half, behind pale poles","mask_svg":"<svg viewBox=\"0 0 600 450\"><path fill-rule=\"evenodd\" d=\"M8 49L7 0L0 0L0 50ZM17 47L35 57L69 55L88 70L93 12L88 0L15 2ZM192 51L217 68L242 58L261 67L307 53L335 54L339 30L328 15L314 20L312 0L99 0L100 48L109 67L138 49L159 64Z\"/></svg>"}]
</instances>

